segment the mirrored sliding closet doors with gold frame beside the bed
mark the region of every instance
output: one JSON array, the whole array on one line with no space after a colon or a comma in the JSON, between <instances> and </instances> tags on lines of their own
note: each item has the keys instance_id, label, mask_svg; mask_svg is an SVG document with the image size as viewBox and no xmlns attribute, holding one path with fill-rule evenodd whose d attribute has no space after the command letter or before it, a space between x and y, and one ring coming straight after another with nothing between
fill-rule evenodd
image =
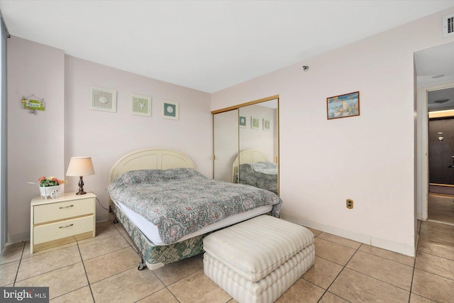
<instances>
[{"instance_id":1,"label":"mirrored sliding closet doors with gold frame beside the bed","mask_svg":"<svg viewBox=\"0 0 454 303\"><path fill-rule=\"evenodd\" d=\"M279 97L213 112L214 179L279 193Z\"/></svg>"}]
</instances>

